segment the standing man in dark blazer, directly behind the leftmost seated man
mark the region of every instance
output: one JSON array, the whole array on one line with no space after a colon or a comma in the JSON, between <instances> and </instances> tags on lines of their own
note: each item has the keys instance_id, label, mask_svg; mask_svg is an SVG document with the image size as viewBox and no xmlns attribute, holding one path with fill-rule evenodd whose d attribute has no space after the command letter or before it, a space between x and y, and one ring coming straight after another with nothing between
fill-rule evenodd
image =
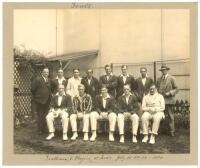
<instances>
[{"instance_id":1,"label":"standing man in dark blazer, directly behind the leftmost seated man","mask_svg":"<svg viewBox=\"0 0 200 168\"><path fill-rule=\"evenodd\" d=\"M52 81L52 93L55 95L58 92L58 86L59 85L64 85L64 89L67 86L67 80L65 79L65 77L63 76L63 70L62 69L58 69L58 76Z\"/></svg>"}]
</instances>

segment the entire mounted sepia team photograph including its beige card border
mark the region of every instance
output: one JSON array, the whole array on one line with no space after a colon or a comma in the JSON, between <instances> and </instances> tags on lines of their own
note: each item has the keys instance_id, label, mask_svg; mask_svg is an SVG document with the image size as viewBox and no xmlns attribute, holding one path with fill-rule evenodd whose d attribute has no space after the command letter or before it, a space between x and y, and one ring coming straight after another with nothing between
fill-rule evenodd
<instances>
[{"instance_id":1,"label":"entire mounted sepia team photograph including its beige card border","mask_svg":"<svg viewBox=\"0 0 200 168\"><path fill-rule=\"evenodd\" d=\"M7 162L197 163L197 4L54 5L4 3Z\"/></svg>"}]
</instances>

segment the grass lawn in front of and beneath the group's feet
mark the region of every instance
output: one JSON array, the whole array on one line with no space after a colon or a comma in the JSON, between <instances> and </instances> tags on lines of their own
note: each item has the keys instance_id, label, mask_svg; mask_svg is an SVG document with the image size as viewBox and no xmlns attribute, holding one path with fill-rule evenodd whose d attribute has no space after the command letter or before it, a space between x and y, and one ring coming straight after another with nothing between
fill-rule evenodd
<instances>
[{"instance_id":1,"label":"grass lawn in front of and beneath the group's feet","mask_svg":"<svg viewBox=\"0 0 200 168\"><path fill-rule=\"evenodd\" d=\"M82 140L79 134L76 141L62 141L62 133L57 132L51 141L46 141L47 135L38 135L36 125L29 124L15 129L14 152L16 154L181 154L190 152L189 130L179 129L175 137L159 134L156 144L144 144L143 136L138 136L138 143L131 142L131 134L125 136L125 143L119 143L119 136L115 135L115 142L108 141L108 134L98 134L95 142ZM71 137L71 135L69 135Z\"/></svg>"}]
</instances>

